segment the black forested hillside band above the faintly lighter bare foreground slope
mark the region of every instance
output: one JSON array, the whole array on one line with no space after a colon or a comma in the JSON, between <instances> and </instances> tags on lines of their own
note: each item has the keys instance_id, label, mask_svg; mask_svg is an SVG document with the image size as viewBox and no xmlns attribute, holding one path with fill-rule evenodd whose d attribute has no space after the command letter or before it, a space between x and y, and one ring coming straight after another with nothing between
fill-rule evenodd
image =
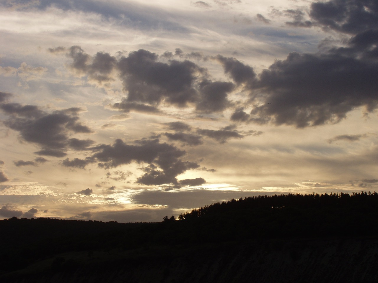
<instances>
[{"instance_id":1,"label":"black forested hillside band above the faintly lighter bare foreground slope","mask_svg":"<svg viewBox=\"0 0 378 283\"><path fill-rule=\"evenodd\" d=\"M21 218L0 220L1 274L46 258L54 270L80 263L67 252L130 251L156 246L213 245L259 239L378 235L378 194L263 195L214 203L158 223Z\"/></svg>"}]
</instances>

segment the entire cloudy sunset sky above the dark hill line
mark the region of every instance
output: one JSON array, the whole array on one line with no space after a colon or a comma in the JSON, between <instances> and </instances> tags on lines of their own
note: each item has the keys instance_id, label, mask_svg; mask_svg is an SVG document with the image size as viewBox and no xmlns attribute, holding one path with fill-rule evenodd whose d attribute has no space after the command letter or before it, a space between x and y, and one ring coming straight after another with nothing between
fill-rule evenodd
<instances>
[{"instance_id":1,"label":"entire cloudy sunset sky above the dark hill line","mask_svg":"<svg viewBox=\"0 0 378 283\"><path fill-rule=\"evenodd\" d=\"M5 0L0 219L378 188L376 0Z\"/></svg>"}]
</instances>

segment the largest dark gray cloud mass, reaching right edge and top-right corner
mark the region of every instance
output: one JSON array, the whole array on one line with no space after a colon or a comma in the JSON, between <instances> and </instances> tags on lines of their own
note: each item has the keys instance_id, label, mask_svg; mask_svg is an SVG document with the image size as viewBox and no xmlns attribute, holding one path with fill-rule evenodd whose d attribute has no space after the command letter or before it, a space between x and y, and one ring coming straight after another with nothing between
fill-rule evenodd
<instances>
[{"instance_id":1,"label":"largest dark gray cloud mass, reaching right edge and top-right corner","mask_svg":"<svg viewBox=\"0 0 378 283\"><path fill-rule=\"evenodd\" d=\"M243 108L235 109L231 120L303 128L337 123L361 106L366 112L376 109L378 4L372 0L312 3L311 23L305 21L307 14L302 9L281 13L293 18L292 25L313 24L353 36L342 48L330 47L317 54L292 52L287 59L274 62L249 84L253 110L248 113ZM227 74L225 62L231 64L234 60L221 56L217 60ZM238 65L243 66L240 62ZM251 73L239 69L240 74Z\"/></svg>"}]
</instances>

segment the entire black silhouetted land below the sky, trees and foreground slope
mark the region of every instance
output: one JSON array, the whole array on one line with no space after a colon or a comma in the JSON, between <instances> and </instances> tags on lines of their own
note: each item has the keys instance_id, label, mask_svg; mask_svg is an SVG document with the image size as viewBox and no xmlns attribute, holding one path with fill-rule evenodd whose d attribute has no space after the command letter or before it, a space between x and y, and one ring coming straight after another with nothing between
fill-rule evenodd
<instances>
[{"instance_id":1,"label":"entire black silhouetted land below the sky, trees and foreground slope","mask_svg":"<svg viewBox=\"0 0 378 283\"><path fill-rule=\"evenodd\" d=\"M161 223L0 221L0 282L378 282L378 194L275 195ZM163 220L163 219L162 219Z\"/></svg>"}]
</instances>

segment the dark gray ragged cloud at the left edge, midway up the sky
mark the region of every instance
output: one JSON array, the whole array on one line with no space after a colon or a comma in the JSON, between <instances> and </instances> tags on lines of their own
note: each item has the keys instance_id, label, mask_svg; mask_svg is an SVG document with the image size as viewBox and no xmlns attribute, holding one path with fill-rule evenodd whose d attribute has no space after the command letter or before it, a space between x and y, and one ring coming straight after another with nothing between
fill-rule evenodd
<instances>
[{"instance_id":1,"label":"dark gray ragged cloud at the left edge, midway up the sky","mask_svg":"<svg viewBox=\"0 0 378 283\"><path fill-rule=\"evenodd\" d=\"M42 148L35 152L36 154L63 157L67 148L85 149L93 143L91 140L68 138L71 133L92 132L79 122L78 115L82 111L80 108L46 113L35 105L2 103L0 109L9 115L9 118L3 122L5 126L18 131L23 140L36 143Z\"/></svg>"}]
</instances>

